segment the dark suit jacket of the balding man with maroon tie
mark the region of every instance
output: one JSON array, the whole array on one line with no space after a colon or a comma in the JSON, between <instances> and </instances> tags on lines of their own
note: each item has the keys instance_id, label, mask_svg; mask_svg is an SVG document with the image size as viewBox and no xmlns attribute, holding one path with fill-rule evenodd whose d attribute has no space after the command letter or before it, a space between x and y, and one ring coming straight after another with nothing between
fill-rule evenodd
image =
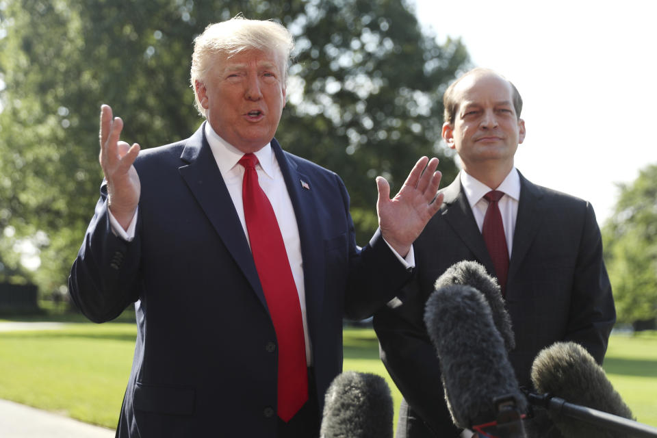
<instances>
[{"instance_id":1,"label":"dark suit jacket of the balding man with maroon tie","mask_svg":"<svg viewBox=\"0 0 657 438\"><path fill-rule=\"evenodd\" d=\"M616 313L591 205L534 185L522 175L520 183L506 308L516 340L509 359L519 383L530 385L534 357L557 341L578 342L602 363ZM440 211L413 244L416 276L400 294L403 304L374 315L381 359L410 407L400 414L400 422L409 427L398 430L400 438L457 433L423 319L437 277L462 260L478 261L495 276L460 177L441 192L445 198Z\"/></svg>"}]
</instances>

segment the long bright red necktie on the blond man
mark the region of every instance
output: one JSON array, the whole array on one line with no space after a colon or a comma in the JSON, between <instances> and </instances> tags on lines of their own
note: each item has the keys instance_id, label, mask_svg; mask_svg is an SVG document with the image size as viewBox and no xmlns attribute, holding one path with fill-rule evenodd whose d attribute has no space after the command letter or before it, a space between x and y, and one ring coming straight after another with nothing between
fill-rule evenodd
<instances>
[{"instance_id":1,"label":"long bright red necktie on the blond man","mask_svg":"<svg viewBox=\"0 0 657 438\"><path fill-rule=\"evenodd\" d=\"M258 183L257 162L252 153L240 159L244 166L244 219L253 261L276 331L279 348L278 414L287 422L308 400L306 348L292 269L274 209Z\"/></svg>"}]
</instances>

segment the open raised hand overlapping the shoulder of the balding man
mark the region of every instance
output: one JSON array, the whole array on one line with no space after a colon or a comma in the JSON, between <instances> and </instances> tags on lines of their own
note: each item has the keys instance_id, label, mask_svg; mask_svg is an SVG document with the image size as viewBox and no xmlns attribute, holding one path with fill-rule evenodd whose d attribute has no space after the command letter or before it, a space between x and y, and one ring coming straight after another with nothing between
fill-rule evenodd
<instances>
[{"instance_id":1,"label":"open raised hand overlapping the shoulder of the balding man","mask_svg":"<svg viewBox=\"0 0 657 438\"><path fill-rule=\"evenodd\" d=\"M443 203L443 195L436 196L442 176L437 167L437 158L417 160L401 190L392 199L388 181L376 177L378 226L385 241L402 257L406 257L417 236Z\"/></svg>"}]
</instances>

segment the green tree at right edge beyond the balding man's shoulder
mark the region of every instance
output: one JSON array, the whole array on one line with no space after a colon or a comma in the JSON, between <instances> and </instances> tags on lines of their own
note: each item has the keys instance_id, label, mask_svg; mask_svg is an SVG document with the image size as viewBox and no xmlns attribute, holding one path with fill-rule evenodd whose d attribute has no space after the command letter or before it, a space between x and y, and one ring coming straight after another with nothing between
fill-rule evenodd
<instances>
[{"instance_id":1,"label":"green tree at right edge beyond the balding man's shoulder","mask_svg":"<svg viewBox=\"0 0 657 438\"><path fill-rule=\"evenodd\" d=\"M620 184L615 214L603 228L604 259L619 322L657 318L657 164Z\"/></svg>"}]
</instances>

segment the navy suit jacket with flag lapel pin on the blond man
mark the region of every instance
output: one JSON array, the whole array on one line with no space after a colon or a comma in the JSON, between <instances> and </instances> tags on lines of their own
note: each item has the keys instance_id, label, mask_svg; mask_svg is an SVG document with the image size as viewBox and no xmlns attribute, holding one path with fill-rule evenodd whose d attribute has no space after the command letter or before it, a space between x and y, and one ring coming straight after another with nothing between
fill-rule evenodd
<instances>
[{"instance_id":1,"label":"navy suit jacket with flag lapel pin on the blond man","mask_svg":"<svg viewBox=\"0 0 657 438\"><path fill-rule=\"evenodd\" d=\"M382 238L357 247L335 173L272 149L292 199L320 412L342 371L342 318L365 318L411 274ZM138 335L118 437L275 437L276 335L244 230L203 126L147 149L136 237L116 237L107 190L70 274L95 322L136 302ZM307 183L308 188L302 186Z\"/></svg>"}]
</instances>

